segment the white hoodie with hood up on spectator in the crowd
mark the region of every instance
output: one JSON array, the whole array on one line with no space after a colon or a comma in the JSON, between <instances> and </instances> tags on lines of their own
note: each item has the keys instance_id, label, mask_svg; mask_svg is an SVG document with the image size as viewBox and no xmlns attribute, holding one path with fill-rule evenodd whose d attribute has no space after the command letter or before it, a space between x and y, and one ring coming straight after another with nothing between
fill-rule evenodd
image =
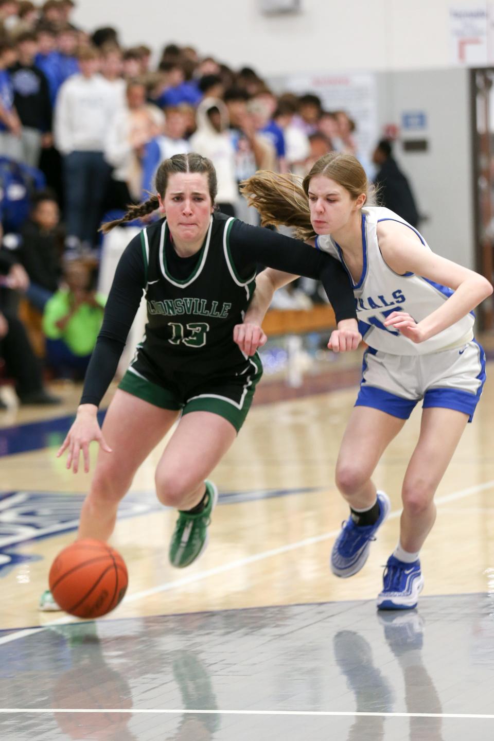
<instances>
[{"instance_id":1,"label":"white hoodie with hood up on spectator in the crowd","mask_svg":"<svg viewBox=\"0 0 494 741\"><path fill-rule=\"evenodd\" d=\"M207 111L218 108L221 117L221 132L216 131ZM235 171L235 149L228 129L227 107L222 100L205 98L198 106L196 113L197 130L190 137L190 149L207 157L213 162L218 176L218 203L238 201L238 187Z\"/></svg>"}]
</instances>

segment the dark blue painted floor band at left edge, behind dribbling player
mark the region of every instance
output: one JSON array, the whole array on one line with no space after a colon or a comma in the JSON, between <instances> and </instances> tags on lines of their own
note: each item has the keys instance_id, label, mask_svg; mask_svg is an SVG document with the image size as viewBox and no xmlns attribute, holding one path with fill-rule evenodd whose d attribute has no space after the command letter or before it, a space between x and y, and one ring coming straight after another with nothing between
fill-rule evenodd
<instances>
[{"instance_id":1,"label":"dark blue painted floor band at left edge, behind dribbling player","mask_svg":"<svg viewBox=\"0 0 494 741\"><path fill-rule=\"evenodd\" d=\"M98 412L98 419L104 419L105 411ZM41 448L58 448L72 425L75 414L27 422L25 425L0 428L0 458L16 453L39 451Z\"/></svg>"}]
</instances>

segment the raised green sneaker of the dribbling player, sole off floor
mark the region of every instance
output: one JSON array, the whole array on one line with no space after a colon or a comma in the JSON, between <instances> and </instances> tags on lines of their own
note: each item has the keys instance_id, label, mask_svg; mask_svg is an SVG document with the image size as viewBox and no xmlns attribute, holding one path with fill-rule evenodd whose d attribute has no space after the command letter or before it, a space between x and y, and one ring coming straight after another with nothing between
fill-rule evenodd
<instances>
[{"instance_id":1,"label":"raised green sneaker of the dribbling player, sole off floor","mask_svg":"<svg viewBox=\"0 0 494 741\"><path fill-rule=\"evenodd\" d=\"M211 522L211 514L218 502L218 489L211 481L205 483L209 499L203 511L190 514L190 512L178 510L178 520L170 543L170 551L168 551L170 563L176 568L190 566L206 550L209 539L207 526Z\"/></svg>"}]
</instances>

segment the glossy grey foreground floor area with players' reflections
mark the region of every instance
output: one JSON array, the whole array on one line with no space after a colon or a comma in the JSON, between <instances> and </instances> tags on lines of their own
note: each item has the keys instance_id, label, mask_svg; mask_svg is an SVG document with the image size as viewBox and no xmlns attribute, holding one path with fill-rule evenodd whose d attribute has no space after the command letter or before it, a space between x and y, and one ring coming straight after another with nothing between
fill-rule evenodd
<instances>
[{"instance_id":1,"label":"glossy grey foreground floor area with players' reflections","mask_svg":"<svg viewBox=\"0 0 494 741\"><path fill-rule=\"evenodd\" d=\"M1 737L487 741L493 608L470 594L420 613L330 602L1 636Z\"/></svg>"}]
</instances>

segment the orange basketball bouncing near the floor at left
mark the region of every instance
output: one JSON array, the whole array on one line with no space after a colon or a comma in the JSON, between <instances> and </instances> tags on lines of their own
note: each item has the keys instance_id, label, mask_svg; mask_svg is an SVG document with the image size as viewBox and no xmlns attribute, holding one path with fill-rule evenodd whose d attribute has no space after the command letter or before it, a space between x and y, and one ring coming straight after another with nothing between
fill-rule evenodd
<instances>
[{"instance_id":1,"label":"orange basketball bouncing near the floor at left","mask_svg":"<svg viewBox=\"0 0 494 741\"><path fill-rule=\"evenodd\" d=\"M50 590L61 609L76 617L106 615L127 591L127 566L107 543L93 538L76 540L53 561Z\"/></svg>"}]
</instances>

